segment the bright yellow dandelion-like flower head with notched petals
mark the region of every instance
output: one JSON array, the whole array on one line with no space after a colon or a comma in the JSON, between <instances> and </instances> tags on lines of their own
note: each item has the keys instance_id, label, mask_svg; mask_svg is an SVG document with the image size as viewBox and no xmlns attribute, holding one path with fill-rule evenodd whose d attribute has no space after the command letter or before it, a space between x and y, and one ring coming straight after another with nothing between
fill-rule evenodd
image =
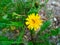
<instances>
[{"instance_id":1,"label":"bright yellow dandelion-like flower head with notched petals","mask_svg":"<svg viewBox=\"0 0 60 45\"><path fill-rule=\"evenodd\" d=\"M37 31L41 25L43 23L43 20L41 19L41 16L39 16L38 14L30 14L27 18L26 18L26 25L28 27L28 29L34 29L35 31Z\"/></svg>"}]
</instances>

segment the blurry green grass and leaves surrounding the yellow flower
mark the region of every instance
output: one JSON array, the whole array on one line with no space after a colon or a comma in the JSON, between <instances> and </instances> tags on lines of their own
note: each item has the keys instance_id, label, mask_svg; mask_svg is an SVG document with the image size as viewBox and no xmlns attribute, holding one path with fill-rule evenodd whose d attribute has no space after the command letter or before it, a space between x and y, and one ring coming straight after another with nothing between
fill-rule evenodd
<instances>
[{"instance_id":1,"label":"blurry green grass and leaves surrounding the yellow flower","mask_svg":"<svg viewBox=\"0 0 60 45\"><path fill-rule=\"evenodd\" d=\"M51 25L50 20L44 22L40 31L36 34L37 38L31 41L23 40L26 30L25 18L28 14L38 13L42 7L46 9L47 2L48 0L45 0L45 3L41 4L40 0L0 0L0 45L53 45L49 43L48 39L50 36L59 35L60 28L50 28L49 33L42 34ZM12 32L10 35L14 34L15 30L12 30L11 26L15 26L16 30L19 30L19 35L16 38L9 39L9 36L4 34L7 32L8 34ZM3 31L4 28L6 28L6 31Z\"/></svg>"}]
</instances>

